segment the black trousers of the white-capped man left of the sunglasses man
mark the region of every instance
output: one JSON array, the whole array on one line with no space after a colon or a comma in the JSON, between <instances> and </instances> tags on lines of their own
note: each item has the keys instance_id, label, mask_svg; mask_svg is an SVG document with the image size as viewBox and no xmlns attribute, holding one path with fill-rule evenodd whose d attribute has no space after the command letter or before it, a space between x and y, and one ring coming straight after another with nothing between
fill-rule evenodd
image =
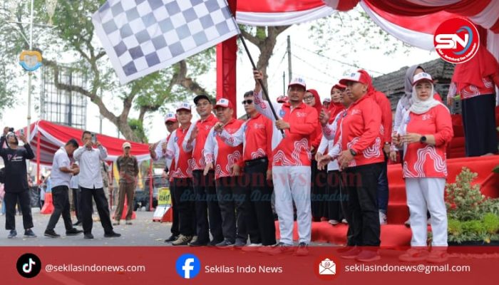
<instances>
[{"instance_id":1,"label":"black trousers of the white-capped man left of the sunglasses man","mask_svg":"<svg viewBox=\"0 0 499 285\"><path fill-rule=\"evenodd\" d=\"M224 239L235 242L236 239L247 242L248 233L245 212L249 208L249 199L244 187L237 185L239 177L220 177L215 180L217 199L222 214L222 233Z\"/></svg>"}]
</instances>

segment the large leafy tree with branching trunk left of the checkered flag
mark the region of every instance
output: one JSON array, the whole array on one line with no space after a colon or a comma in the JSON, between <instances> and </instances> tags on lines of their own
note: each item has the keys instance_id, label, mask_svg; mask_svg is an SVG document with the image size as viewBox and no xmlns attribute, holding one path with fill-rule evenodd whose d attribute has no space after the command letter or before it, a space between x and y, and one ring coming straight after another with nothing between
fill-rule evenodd
<instances>
[{"instance_id":1,"label":"large leafy tree with branching trunk left of the checkered flag","mask_svg":"<svg viewBox=\"0 0 499 285\"><path fill-rule=\"evenodd\" d=\"M40 28L36 28L37 33L41 34L37 47L43 51L43 64L53 69L56 88L81 93L90 98L98 106L101 115L116 125L125 138L145 142L142 122L147 113L160 110L165 103L182 100L187 95L208 93L195 81L195 77L208 70L209 63L214 58L214 49L120 86L106 52L94 37L91 22L91 15L104 2L105 0L58 1L53 16L56 28L52 34L46 31L42 33ZM28 17L26 10L26 4L20 3L16 13L19 21ZM38 1L35 10L35 19L46 22L48 14L43 3ZM24 26L18 25L16 28L27 35ZM12 28L4 31L2 37L11 32ZM27 49L27 46L18 37L16 48L11 48L10 52L15 54L20 49ZM88 78L88 86L68 85L58 81L59 62L65 61L65 58L76 59L71 63L71 68ZM112 98L106 98L111 92ZM105 95L104 98L100 97L101 93ZM106 99L110 103L106 103ZM112 106L117 99L123 103L121 110L115 113ZM132 109L138 111L138 118L130 118Z\"/></svg>"}]
</instances>

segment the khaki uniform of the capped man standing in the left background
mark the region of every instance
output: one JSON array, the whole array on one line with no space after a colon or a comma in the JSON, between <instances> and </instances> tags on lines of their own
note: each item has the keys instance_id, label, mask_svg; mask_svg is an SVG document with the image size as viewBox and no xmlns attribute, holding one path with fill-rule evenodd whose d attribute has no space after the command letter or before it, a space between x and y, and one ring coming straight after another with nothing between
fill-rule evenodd
<instances>
[{"instance_id":1,"label":"khaki uniform of the capped man standing in the left background","mask_svg":"<svg viewBox=\"0 0 499 285\"><path fill-rule=\"evenodd\" d=\"M135 194L135 179L138 175L138 161L135 156L128 157L120 155L116 160L118 172L120 172L120 188L118 190L118 205L114 219L119 221L123 214L123 207L125 205L125 195L127 197L128 211L126 213L126 220L132 219L133 214L133 196Z\"/></svg>"}]
</instances>

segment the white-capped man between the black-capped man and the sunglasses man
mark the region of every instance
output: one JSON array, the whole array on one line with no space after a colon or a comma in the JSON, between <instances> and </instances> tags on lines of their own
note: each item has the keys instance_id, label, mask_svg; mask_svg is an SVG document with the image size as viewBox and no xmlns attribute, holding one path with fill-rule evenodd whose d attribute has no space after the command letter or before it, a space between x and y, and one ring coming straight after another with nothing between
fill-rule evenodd
<instances>
[{"instance_id":1,"label":"white-capped man between the black-capped man and the sunglasses man","mask_svg":"<svg viewBox=\"0 0 499 285\"><path fill-rule=\"evenodd\" d=\"M235 133L243 121L232 118L234 110L229 100L222 98L215 105L218 123L217 130L225 129L228 133ZM237 177L242 168L242 145L232 147L217 137L215 128L210 130L205 143L205 175L215 169L215 186L217 198L222 213L222 233L224 240L217 247L242 247L246 245L248 234L244 223L244 200L240 196L245 192L237 186ZM236 217L237 212L237 217ZM237 227L236 227L237 224Z\"/></svg>"}]
</instances>

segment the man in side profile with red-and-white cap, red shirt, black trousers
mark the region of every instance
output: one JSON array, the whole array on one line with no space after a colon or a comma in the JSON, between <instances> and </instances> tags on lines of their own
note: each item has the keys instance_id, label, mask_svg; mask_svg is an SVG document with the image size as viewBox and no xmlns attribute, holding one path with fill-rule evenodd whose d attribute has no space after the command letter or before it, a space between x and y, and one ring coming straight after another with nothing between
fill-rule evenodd
<instances>
[{"instance_id":1,"label":"man in side profile with red-and-white cap, red shirt, black trousers","mask_svg":"<svg viewBox=\"0 0 499 285\"><path fill-rule=\"evenodd\" d=\"M345 259L374 261L380 240L377 184L383 167L383 135L381 110L369 89L367 73L350 73L339 83L353 101L341 120L341 152L338 164L345 172L344 187L348 193L346 217L349 221L349 245L358 247L341 254Z\"/></svg>"}]
</instances>

